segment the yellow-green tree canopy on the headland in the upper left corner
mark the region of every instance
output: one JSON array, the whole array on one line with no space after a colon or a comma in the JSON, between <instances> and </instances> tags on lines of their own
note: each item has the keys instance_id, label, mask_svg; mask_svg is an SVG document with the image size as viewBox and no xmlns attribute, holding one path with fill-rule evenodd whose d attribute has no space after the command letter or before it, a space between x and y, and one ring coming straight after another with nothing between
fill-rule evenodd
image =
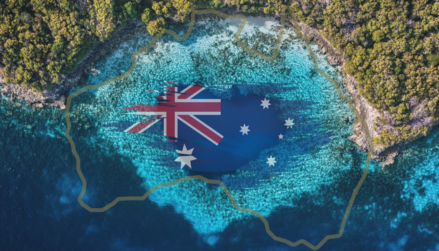
<instances>
[{"instance_id":1,"label":"yellow-green tree canopy on the headland in the upper left corner","mask_svg":"<svg viewBox=\"0 0 439 251\"><path fill-rule=\"evenodd\" d=\"M127 0L0 1L0 80L49 89L139 7Z\"/></svg>"}]
</instances>

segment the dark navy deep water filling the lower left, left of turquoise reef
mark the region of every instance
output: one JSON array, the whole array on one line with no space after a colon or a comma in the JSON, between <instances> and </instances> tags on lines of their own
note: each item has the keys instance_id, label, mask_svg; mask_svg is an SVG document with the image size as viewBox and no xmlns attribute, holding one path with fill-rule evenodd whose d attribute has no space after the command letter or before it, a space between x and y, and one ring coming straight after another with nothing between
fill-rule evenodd
<instances>
[{"instance_id":1,"label":"dark navy deep water filling the lower left, left of turquoise reef","mask_svg":"<svg viewBox=\"0 0 439 251\"><path fill-rule=\"evenodd\" d=\"M21 135L21 136L20 136ZM193 250L206 247L190 222L150 200L90 213L76 197L80 181L65 138L2 130L0 242L2 250ZM83 151L91 151L84 149ZM85 156L85 154L83 154ZM96 198L143 193L141 178L123 156L83 157ZM102 160L102 159L101 159ZM111 169L108 167L111 166ZM93 167L93 168L91 168ZM119 170L115 167L121 167ZM101 184L94 176L118 177ZM114 176L113 176L114 177ZM125 186L120 186L120 180ZM62 189L62 190L61 190ZM97 200L97 203L104 203Z\"/></svg>"}]
</instances>

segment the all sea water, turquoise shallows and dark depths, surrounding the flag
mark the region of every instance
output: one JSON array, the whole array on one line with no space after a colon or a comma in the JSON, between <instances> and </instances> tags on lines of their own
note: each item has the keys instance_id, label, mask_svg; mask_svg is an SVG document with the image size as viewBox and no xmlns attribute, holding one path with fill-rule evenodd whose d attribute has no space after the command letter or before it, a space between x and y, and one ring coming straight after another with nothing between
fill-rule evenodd
<instances>
[{"instance_id":1,"label":"all sea water, turquoise shallows and dark depths, surrounding the flag","mask_svg":"<svg viewBox=\"0 0 439 251\"><path fill-rule=\"evenodd\" d=\"M86 204L103 207L117 196L141 196L159 183L194 175L151 164L152 149L144 136L104 127L108 121L130 118L121 109L128 103L153 102L154 96L144 90L157 85L151 79L212 85L294 83L297 89L283 98L315 102L313 109L296 114L297 126L308 126L303 122L307 118L320 121L313 135L331 133L330 141L295 156L291 166L281 166L288 171L267 177L266 185L230 190L238 205L261 213L282 238L316 245L338 233L366 160L366 153L348 139L355 116L314 70L302 47L305 42L291 26L286 26L279 55L270 63L234 41L240 23L197 22L183 42L165 35L138 56L129 78L73 98L70 135L87 180ZM278 31L274 18L248 18L240 38L271 56ZM151 39L145 33L121 44L95 65L98 76L90 75L81 87L125 73L133 52ZM316 44L311 47L320 69L342 82L338 66L331 66ZM1 201L9 205L2 210L0 238L6 250L309 250L272 240L259 218L237 211L222 189L201 181L164 187L144 201L122 201L104 213L90 213L77 201L82 182L64 136L64 111L7 96L0 98L0 109ZM389 167L372 162L343 236L321 250L439 250L438 135L434 128L404 146Z\"/></svg>"}]
</instances>

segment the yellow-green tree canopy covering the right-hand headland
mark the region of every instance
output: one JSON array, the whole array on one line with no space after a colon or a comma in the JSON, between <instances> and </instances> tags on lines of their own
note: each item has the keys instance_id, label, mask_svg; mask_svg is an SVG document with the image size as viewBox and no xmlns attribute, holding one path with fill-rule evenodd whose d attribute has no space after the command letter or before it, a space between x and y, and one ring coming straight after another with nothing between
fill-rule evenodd
<instances>
[{"instance_id":1,"label":"yellow-green tree canopy covering the right-hand headland","mask_svg":"<svg viewBox=\"0 0 439 251\"><path fill-rule=\"evenodd\" d=\"M439 118L439 2L316 0L293 4L348 59L360 94L383 113L379 146L425 134Z\"/></svg>"}]
</instances>

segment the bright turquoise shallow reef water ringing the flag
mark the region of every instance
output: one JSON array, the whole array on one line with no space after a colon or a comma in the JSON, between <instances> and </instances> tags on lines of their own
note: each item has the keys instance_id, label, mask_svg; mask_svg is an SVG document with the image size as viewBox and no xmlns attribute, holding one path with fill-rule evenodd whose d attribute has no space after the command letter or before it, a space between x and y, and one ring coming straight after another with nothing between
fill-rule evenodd
<instances>
[{"instance_id":1,"label":"bright turquoise shallow reef water ringing the flag","mask_svg":"<svg viewBox=\"0 0 439 251\"><path fill-rule=\"evenodd\" d=\"M81 113L97 114L87 116L90 121L94 121L95 126L104 121L121 120L120 113L123 110L120 108L124 104L151 102L150 92L142 90L154 89L151 87L154 86L154 81L150 79L211 84L294 83L292 85L299 89L292 91L288 97L283 95L284 98L318 102L317 105L313 105L317 109L313 109L312 114L306 114L308 111L305 111L302 117L312 116L317 121L324 121L319 133L333 132L333 141L321 147L320 151L301 156L296 170L271 178L270 186L234 191L234 196L242 207L253 208L268 216L276 207L297 206L295 198L300 198L303 193L317 193L322 184L331 182L332 173L352 167L350 155L355 150L347 139L352 130L351 123L346 124L342 118L353 119L354 116L347 105L337 97L332 84L319 74L313 73L314 66L309 60L308 52L300 43L294 43L298 41L294 32L289 29L286 31L279 56L274 62L269 63L243 51L234 43L233 34L240 24L237 21L240 20L198 23L194 27L194 33L182 43L168 37L159 40L151 50L138 57L137 66L128 79L92 91L93 95L79 95L75 98L72 117ZM275 22L270 20L259 20L259 23L250 20L243 30L243 40L250 40L256 36L253 46L256 47L255 44L259 43L257 49L260 52L270 53L279 30L279 26L274 24ZM209 33L206 33L206 30ZM319 59L322 68L329 69L329 73L340 80L341 76L337 75L335 69L330 67L323 57ZM114 69L114 65L103 67L100 69L101 72ZM300 126L300 118L297 121ZM151 148L142 144L139 135L105 130L106 128L97 129L96 137L101 137L105 144L112 144L120 154L133 160L133 164L137 166L137 174L145 179L146 188L190 175L188 171L151 165L151 161L148 161L148 157L152 158L151 154L148 154ZM76 141L89 138L88 134L72 135ZM344 145L348 145L350 149L346 153L334 151L337 147L345 147ZM101 147L105 148L105 145ZM347 155L342 159L342 163L334 161L338 154ZM150 199L160 205L172 204L177 212L193 222L197 232L205 235L208 242L213 244L215 239L212 239L212 235L224 230L231 221L245 217L245 214L230 206L228 198L221 194L222 190L219 187L205 189L205 186L203 182L184 182L175 187L162 188L151 194ZM334 193L334 196L337 194Z\"/></svg>"}]
</instances>

